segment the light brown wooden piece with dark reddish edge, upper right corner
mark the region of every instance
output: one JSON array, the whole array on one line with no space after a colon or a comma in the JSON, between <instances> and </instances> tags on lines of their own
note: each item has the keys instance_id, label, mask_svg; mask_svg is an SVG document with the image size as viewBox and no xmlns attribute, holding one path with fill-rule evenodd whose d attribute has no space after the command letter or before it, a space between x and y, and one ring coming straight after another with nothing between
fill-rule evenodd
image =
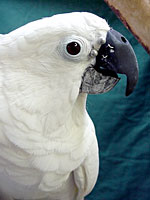
<instances>
[{"instance_id":1,"label":"light brown wooden piece with dark reddish edge, upper right corner","mask_svg":"<svg viewBox=\"0 0 150 200\"><path fill-rule=\"evenodd\" d=\"M150 54L150 0L104 0Z\"/></svg>"}]
</instances>

